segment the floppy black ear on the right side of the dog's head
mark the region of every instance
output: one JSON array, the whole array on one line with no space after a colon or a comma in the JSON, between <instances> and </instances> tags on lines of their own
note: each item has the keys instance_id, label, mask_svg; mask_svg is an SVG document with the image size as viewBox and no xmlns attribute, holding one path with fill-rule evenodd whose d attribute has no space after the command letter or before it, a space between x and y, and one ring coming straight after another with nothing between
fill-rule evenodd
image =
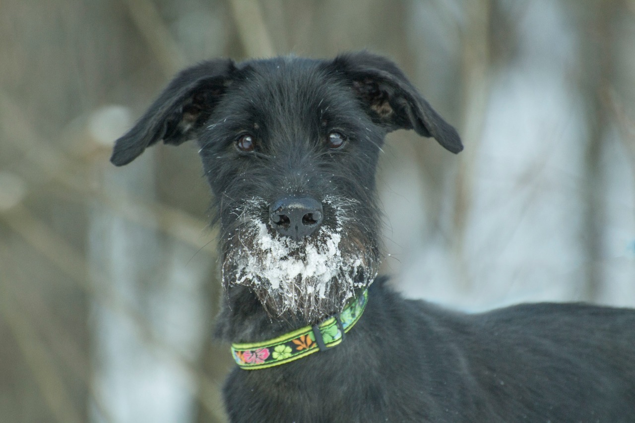
<instances>
[{"instance_id":1,"label":"floppy black ear on the right side of the dog's head","mask_svg":"<svg viewBox=\"0 0 635 423\"><path fill-rule=\"evenodd\" d=\"M432 109L387 58L361 51L338 56L333 66L351 81L375 123L389 131L413 129L423 137L434 137L453 153L463 149L457 130Z\"/></svg>"}]
</instances>

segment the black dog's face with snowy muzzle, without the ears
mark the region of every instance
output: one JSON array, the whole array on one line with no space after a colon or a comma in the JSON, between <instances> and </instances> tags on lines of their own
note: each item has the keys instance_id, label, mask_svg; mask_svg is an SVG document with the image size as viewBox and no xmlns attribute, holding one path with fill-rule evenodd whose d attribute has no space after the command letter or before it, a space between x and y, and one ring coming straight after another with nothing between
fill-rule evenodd
<instances>
[{"instance_id":1,"label":"black dog's face with snowy muzzle, without the ears","mask_svg":"<svg viewBox=\"0 0 635 423\"><path fill-rule=\"evenodd\" d=\"M250 286L274 315L319 319L375 276L378 213L359 205L375 203L383 133L366 129L373 122L347 91L319 62L254 62L199 138L220 198L224 283ZM321 215L315 231L276 230L274 211L307 201L319 210L302 214ZM286 223L295 229L301 220Z\"/></svg>"}]
</instances>

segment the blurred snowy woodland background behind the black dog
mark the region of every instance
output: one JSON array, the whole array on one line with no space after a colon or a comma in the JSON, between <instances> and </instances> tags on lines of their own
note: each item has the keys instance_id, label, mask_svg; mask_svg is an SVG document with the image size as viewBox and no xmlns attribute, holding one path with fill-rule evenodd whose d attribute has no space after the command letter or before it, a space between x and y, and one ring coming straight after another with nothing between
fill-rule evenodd
<instances>
[{"instance_id":1,"label":"blurred snowy woodland background behind the black dog","mask_svg":"<svg viewBox=\"0 0 635 423\"><path fill-rule=\"evenodd\" d=\"M464 139L406 131L378 175L409 297L635 306L633 0L4 0L0 420L224 422L228 346L194 144L114 139L211 57L368 50Z\"/></svg>"}]
</instances>

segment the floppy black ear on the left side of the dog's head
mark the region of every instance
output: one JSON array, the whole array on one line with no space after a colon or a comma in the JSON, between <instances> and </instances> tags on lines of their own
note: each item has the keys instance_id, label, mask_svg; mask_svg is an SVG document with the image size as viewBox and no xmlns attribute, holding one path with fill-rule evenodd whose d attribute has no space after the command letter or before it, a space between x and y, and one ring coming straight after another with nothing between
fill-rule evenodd
<instances>
[{"instance_id":1,"label":"floppy black ear on the left side of the dog's head","mask_svg":"<svg viewBox=\"0 0 635 423\"><path fill-rule=\"evenodd\" d=\"M115 142L110 161L123 166L157 141L178 145L196 139L235 69L231 60L218 59L180 72L137 124Z\"/></svg>"}]
</instances>

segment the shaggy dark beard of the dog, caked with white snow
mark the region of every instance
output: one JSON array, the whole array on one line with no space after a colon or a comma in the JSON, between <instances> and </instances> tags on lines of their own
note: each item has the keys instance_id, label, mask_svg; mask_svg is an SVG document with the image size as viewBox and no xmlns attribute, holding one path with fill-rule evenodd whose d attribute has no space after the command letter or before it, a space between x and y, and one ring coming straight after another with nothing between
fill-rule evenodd
<instances>
[{"instance_id":1,"label":"shaggy dark beard of the dog, caked with white snow","mask_svg":"<svg viewBox=\"0 0 635 423\"><path fill-rule=\"evenodd\" d=\"M259 210L253 200L250 210ZM324 203L333 205L333 199ZM334 228L322 225L300 241L282 236L243 211L239 229L227 239L222 265L225 287L248 286L273 317L302 316L307 323L342 311L355 290L377 276L377 258L368 241L352 232L338 201ZM344 228L347 223L348 229Z\"/></svg>"}]
</instances>

